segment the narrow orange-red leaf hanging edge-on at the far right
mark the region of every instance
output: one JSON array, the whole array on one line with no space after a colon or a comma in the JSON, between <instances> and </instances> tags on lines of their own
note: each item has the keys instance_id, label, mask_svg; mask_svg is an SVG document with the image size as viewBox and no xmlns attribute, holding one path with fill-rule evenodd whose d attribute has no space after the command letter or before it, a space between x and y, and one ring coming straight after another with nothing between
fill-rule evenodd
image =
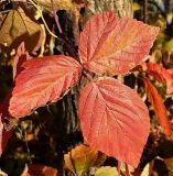
<instances>
[{"instance_id":1,"label":"narrow orange-red leaf hanging edge-on at the far right","mask_svg":"<svg viewBox=\"0 0 173 176\"><path fill-rule=\"evenodd\" d=\"M166 135L170 135L171 134L171 123L169 121L167 111L165 109L163 100L161 96L159 95L156 88L151 84L151 81L147 78L143 80L144 80L145 92L158 117L158 121L160 125L164 129L164 133Z\"/></svg>"}]
</instances>

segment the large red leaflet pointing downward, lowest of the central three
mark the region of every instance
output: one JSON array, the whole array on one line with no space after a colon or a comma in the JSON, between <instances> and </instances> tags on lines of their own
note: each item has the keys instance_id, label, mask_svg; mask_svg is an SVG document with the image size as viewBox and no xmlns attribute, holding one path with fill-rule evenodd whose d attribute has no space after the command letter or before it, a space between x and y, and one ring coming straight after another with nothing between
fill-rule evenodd
<instances>
[{"instance_id":1,"label":"large red leaflet pointing downward, lowest of the central three","mask_svg":"<svg viewBox=\"0 0 173 176\"><path fill-rule=\"evenodd\" d=\"M84 139L91 147L138 165L150 119L134 90L109 77L91 81L80 92L79 118Z\"/></svg>"}]
</instances>

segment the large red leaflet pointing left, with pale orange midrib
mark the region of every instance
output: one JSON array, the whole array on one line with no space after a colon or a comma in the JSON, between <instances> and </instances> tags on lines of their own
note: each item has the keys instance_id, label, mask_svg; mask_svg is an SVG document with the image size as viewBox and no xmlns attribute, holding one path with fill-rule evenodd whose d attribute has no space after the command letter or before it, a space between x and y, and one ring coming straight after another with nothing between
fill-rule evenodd
<instances>
[{"instance_id":1,"label":"large red leaflet pointing left, with pale orange midrib","mask_svg":"<svg viewBox=\"0 0 173 176\"><path fill-rule=\"evenodd\" d=\"M25 69L17 77L9 111L15 118L57 101L74 86L80 75L80 65L72 57L57 55L25 62Z\"/></svg>"}]
</instances>

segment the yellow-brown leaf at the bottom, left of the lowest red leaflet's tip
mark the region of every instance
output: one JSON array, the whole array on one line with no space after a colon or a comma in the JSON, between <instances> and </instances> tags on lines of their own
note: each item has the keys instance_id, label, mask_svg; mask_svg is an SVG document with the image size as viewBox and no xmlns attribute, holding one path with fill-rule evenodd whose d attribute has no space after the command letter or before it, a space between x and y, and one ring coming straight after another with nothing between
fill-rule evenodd
<instances>
[{"instance_id":1,"label":"yellow-brown leaf at the bottom, left of the lowest red leaflet's tip","mask_svg":"<svg viewBox=\"0 0 173 176\"><path fill-rule=\"evenodd\" d=\"M99 162L98 158L100 158ZM98 156L96 150L84 144L65 154L64 160L66 167L78 176L83 176L91 166L101 165L105 162L102 156Z\"/></svg>"}]
</instances>

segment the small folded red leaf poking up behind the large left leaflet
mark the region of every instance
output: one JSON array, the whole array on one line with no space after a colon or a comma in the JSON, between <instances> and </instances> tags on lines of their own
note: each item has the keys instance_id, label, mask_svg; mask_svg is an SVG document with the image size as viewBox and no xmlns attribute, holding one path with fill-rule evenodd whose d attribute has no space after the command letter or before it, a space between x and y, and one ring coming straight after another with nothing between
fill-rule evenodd
<instances>
[{"instance_id":1,"label":"small folded red leaf poking up behind the large left leaflet","mask_svg":"<svg viewBox=\"0 0 173 176\"><path fill-rule=\"evenodd\" d=\"M21 65L32 57L29 55L29 53L25 51L24 42L22 42L17 50L17 55L14 57L13 62L13 80L15 77L22 72Z\"/></svg>"}]
</instances>

